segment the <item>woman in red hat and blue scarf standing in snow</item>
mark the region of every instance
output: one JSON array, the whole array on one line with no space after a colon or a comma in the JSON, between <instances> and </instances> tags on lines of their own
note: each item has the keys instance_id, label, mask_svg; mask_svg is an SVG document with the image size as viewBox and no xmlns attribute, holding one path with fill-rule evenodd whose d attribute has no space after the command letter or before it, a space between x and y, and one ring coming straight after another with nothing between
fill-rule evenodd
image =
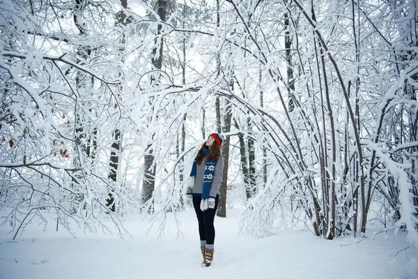
<instances>
[{"instance_id":1,"label":"woman in red hat and blue scarf standing in snow","mask_svg":"<svg viewBox=\"0 0 418 279\"><path fill-rule=\"evenodd\" d=\"M210 266L213 259L215 227L213 220L219 202L219 186L224 174L224 158L220 147L222 137L210 134L193 162L187 188L187 203L193 205L199 223L202 266Z\"/></svg>"}]
</instances>

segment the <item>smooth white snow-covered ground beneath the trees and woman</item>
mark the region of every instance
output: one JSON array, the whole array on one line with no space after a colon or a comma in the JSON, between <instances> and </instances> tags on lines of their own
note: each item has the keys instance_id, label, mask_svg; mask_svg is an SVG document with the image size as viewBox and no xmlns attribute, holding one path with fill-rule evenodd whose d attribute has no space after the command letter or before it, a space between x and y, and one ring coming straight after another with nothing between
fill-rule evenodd
<instances>
[{"instance_id":1,"label":"smooth white snow-covered ground beneath the trees and woman","mask_svg":"<svg viewBox=\"0 0 418 279\"><path fill-rule=\"evenodd\" d=\"M126 228L132 238L112 234L54 231L49 223L32 223L15 241L0 227L0 278L284 278L284 279L401 279L418 278L418 249L405 232L377 234L374 239L346 237L319 239L310 232L283 231L264 238L237 236L239 211L215 218L214 262L201 267L194 211L178 213L176 239L172 215L164 237L145 235L146 224L131 218ZM172 214L172 213L170 213ZM371 232L369 232L370 234Z\"/></svg>"}]
</instances>

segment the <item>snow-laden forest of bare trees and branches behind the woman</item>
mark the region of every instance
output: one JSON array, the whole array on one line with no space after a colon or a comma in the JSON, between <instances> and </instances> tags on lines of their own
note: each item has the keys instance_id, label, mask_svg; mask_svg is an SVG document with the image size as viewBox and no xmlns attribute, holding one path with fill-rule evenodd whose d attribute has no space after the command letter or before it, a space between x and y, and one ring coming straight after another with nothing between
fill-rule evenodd
<instances>
[{"instance_id":1,"label":"snow-laden forest of bare trees and branches behind the woman","mask_svg":"<svg viewBox=\"0 0 418 279\"><path fill-rule=\"evenodd\" d=\"M164 234L215 132L240 233L418 246L417 21L413 0L1 0L0 224Z\"/></svg>"}]
</instances>

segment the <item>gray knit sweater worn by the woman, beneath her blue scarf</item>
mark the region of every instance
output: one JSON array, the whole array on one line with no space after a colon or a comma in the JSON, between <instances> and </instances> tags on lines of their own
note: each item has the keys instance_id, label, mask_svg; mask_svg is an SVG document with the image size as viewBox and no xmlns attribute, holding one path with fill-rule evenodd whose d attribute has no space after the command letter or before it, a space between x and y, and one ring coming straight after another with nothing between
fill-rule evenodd
<instances>
[{"instance_id":1,"label":"gray knit sweater worn by the woman, beneath her blue scarf","mask_svg":"<svg viewBox=\"0 0 418 279\"><path fill-rule=\"evenodd\" d=\"M187 188L187 195L200 196L203 190L203 174L205 174L206 157L203 157L202 163L196 165L196 175L194 176L193 187ZM216 197L219 195L219 187L221 186L222 176L224 176L224 157L219 156L215 165L215 172L213 174L212 186L210 186L209 197Z\"/></svg>"}]
</instances>

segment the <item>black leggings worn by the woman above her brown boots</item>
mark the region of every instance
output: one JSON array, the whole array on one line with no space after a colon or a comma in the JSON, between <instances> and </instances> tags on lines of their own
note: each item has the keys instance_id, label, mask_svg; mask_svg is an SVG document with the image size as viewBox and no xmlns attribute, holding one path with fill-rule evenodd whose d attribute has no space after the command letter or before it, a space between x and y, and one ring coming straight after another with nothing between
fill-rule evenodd
<instances>
[{"instance_id":1,"label":"black leggings worn by the woman above her brown boots","mask_svg":"<svg viewBox=\"0 0 418 279\"><path fill-rule=\"evenodd\" d=\"M218 202L219 197L215 197L215 208L201 211L201 197L193 196L193 207L194 211L196 211L196 217L199 223L200 240L206 240L206 244L213 244L215 242L215 227L213 226L213 220L215 219Z\"/></svg>"}]
</instances>

